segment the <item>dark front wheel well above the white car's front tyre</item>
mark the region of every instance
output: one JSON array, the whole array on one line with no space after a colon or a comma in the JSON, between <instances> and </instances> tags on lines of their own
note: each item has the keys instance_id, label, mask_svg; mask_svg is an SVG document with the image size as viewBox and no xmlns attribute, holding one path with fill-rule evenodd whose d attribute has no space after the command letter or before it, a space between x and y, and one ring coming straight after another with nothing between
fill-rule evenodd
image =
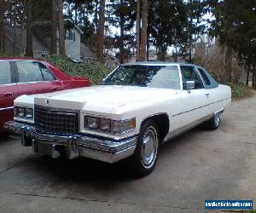
<instances>
[{"instance_id":1,"label":"dark front wheel well above the white car's front tyre","mask_svg":"<svg viewBox=\"0 0 256 213\"><path fill-rule=\"evenodd\" d=\"M159 139L160 141L163 141L166 137L166 135L169 132L169 127L170 127L170 122L169 122L169 117L167 114L158 114L151 116L149 118L146 118L143 120L143 123L148 121L148 120L153 120L154 123L157 126L158 134L159 134Z\"/></svg>"}]
</instances>

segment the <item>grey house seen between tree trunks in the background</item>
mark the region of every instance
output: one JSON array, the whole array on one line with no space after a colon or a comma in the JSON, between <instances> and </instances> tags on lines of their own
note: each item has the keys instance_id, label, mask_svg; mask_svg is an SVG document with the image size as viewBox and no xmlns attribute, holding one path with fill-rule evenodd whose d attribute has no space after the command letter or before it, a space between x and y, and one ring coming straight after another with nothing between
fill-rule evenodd
<instances>
[{"instance_id":1,"label":"grey house seen between tree trunks in the background","mask_svg":"<svg viewBox=\"0 0 256 213\"><path fill-rule=\"evenodd\" d=\"M77 61L91 58L96 60L96 55L84 44L81 43L82 30L72 20L65 21L65 49L66 55ZM33 55L35 58L50 55L51 31L50 21L37 23L32 28ZM58 37L58 32L57 32ZM58 43L57 43L58 46ZM59 52L57 48L57 52ZM5 55L25 55L26 53L26 29L6 26L5 33Z\"/></svg>"}]
</instances>

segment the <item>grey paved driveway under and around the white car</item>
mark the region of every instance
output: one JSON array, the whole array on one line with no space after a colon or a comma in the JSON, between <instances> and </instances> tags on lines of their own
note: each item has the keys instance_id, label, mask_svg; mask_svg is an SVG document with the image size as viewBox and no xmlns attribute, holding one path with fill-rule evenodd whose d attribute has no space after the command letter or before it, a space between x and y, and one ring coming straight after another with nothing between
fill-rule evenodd
<instances>
[{"instance_id":1,"label":"grey paved driveway under and around the white car","mask_svg":"<svg viewBox=\"0 0 256 213\"><path fill-rule=\"evenodd\" d=\"M256 96L233 102L219 130L164 145L138 180L122 163L53 160L0 137L0 212L204 212L205 199L256 203Z\"/></svg>"}]
</instances>

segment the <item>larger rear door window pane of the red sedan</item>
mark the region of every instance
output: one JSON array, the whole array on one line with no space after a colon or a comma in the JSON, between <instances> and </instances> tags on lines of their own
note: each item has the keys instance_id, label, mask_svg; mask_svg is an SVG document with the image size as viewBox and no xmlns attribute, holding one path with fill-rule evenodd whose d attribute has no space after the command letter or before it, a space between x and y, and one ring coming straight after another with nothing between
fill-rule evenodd
<instances>
[{"instance_id":1,"label":"larger rear door window pane of the red sedan","mask_svg":"<svg viewBox=\"0 0 256 213\"><path fill-rule=\"evenodd\" d=\"M20 83L44 81L42 72L36 61L16 61Z\"/></svg>"}]
</instances>

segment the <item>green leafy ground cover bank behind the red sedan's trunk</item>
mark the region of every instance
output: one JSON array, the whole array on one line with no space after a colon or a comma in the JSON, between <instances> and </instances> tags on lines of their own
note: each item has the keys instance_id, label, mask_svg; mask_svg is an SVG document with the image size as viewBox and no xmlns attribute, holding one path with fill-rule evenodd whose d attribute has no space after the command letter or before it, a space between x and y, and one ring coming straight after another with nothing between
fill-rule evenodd
<instances>
[{"instance_id":1,"label":"green leafy ground cover bank behind the red sedan's trunk","mask_svg":"<svg viewBox=\"0 0 256 213\"><path fill-rule=\"evenodd\" d=\"M97 61L87 64L79 64L73 63L73 61L67 59L67 57L59 55L50 55L44 59L61 68L67 75L89 78L90 82L94 85L101 83L102 79L112 71L107 66L104 66Z\"/></svg>"}]
</instances>

